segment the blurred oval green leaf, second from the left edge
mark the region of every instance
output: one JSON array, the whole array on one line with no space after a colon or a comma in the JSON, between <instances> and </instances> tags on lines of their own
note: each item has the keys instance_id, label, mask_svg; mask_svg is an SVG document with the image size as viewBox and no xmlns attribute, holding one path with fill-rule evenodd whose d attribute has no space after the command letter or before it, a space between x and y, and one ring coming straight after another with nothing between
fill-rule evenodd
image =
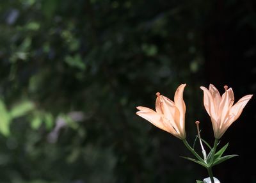
<instances>
[{"instance_id":1,"label":"blurred oval green leaf, second from the left edge","mask_svg":"<svg viewBox=\"0 0 256 183\"><path fill-rule=\"evenodd\" d=\"M10 111L11 118L18 118L20 116L26 115L29 111L34 109L34 104L30 101L20 102L16 106L12 107Z\"/></svg>"}]
</instances>

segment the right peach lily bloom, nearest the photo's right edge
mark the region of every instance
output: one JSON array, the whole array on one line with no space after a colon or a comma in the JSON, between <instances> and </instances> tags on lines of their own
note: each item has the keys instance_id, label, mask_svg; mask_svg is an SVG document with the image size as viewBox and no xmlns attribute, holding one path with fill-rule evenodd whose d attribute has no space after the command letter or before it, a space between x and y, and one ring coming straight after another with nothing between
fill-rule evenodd
<instances>
[{"instance_id":1,"label":"right peach lily bloom, nearest the photo's right edge","mask_svg":"<svg viewBox=\"0 0 256 183\"><path fill-rule=\"evenodd\" d=\"M224 86L225 93L222 96L213 84L209 85L209 90L204 86L200 88L204 91L204 106L211 117L214 136L220 139L228 127L239 118L252 95L246 95L234 104L234 93L228 86Z\"/></svg>"}]
</instances>

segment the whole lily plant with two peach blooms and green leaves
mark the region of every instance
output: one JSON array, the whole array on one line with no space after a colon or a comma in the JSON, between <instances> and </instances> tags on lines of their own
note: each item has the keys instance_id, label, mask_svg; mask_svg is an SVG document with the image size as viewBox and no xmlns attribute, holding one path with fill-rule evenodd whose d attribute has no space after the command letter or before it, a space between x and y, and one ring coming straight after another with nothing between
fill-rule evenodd
<instances>
[{"instance_id":1,"label":"whole lily plant with two peach blooms and green leaves","mask_svg":"<svg viewBox=\"0 0 256 183\"><path fill-rule=\"evenodd\" d=\"M196 138L199 139L200 146L202 148L202 156L200 156L195 151L195 148L191 147L186 140L186 105L183 100L185 86L186 84L181 84L177 88L174 95L174 102L157 92L156 111L148 107L138 106L137 109L139 111L136 113L136 115L145 118L145 120L148 120L148 122L152 123L156 127L159 127L160 129L163 129L164 131L169 132L170 134L173 134L173 136L181 139L188 150L195 156L195 159L191 157L184 158L198 163L207 169L209 178L204 179L204 182L218 183L220 181L213 177L212 166L237 156L236 154L223 156L223 153L228 147L228 143L217 151L219 140L225 131L227 131L228 127L230 127L230 125L236 121L237 118L239 118L247 102L252 98L253 95L246 95L238 100L236 104L234 104L234 93L232 88L224 86L225 93L220 95L220 92L213 84L209 85L209 89L205 88L204 86L200 87L204 91L204 107L211 117L215 138L214 145L211 147L209 143L201 138L199 129L200 122L196 121L198 132L198 136L196 136ZM208 154L204 149L204 144L209 147ZM202 181L196 180L196 182L200 183Z\"/></svg>"}]
</instances>

